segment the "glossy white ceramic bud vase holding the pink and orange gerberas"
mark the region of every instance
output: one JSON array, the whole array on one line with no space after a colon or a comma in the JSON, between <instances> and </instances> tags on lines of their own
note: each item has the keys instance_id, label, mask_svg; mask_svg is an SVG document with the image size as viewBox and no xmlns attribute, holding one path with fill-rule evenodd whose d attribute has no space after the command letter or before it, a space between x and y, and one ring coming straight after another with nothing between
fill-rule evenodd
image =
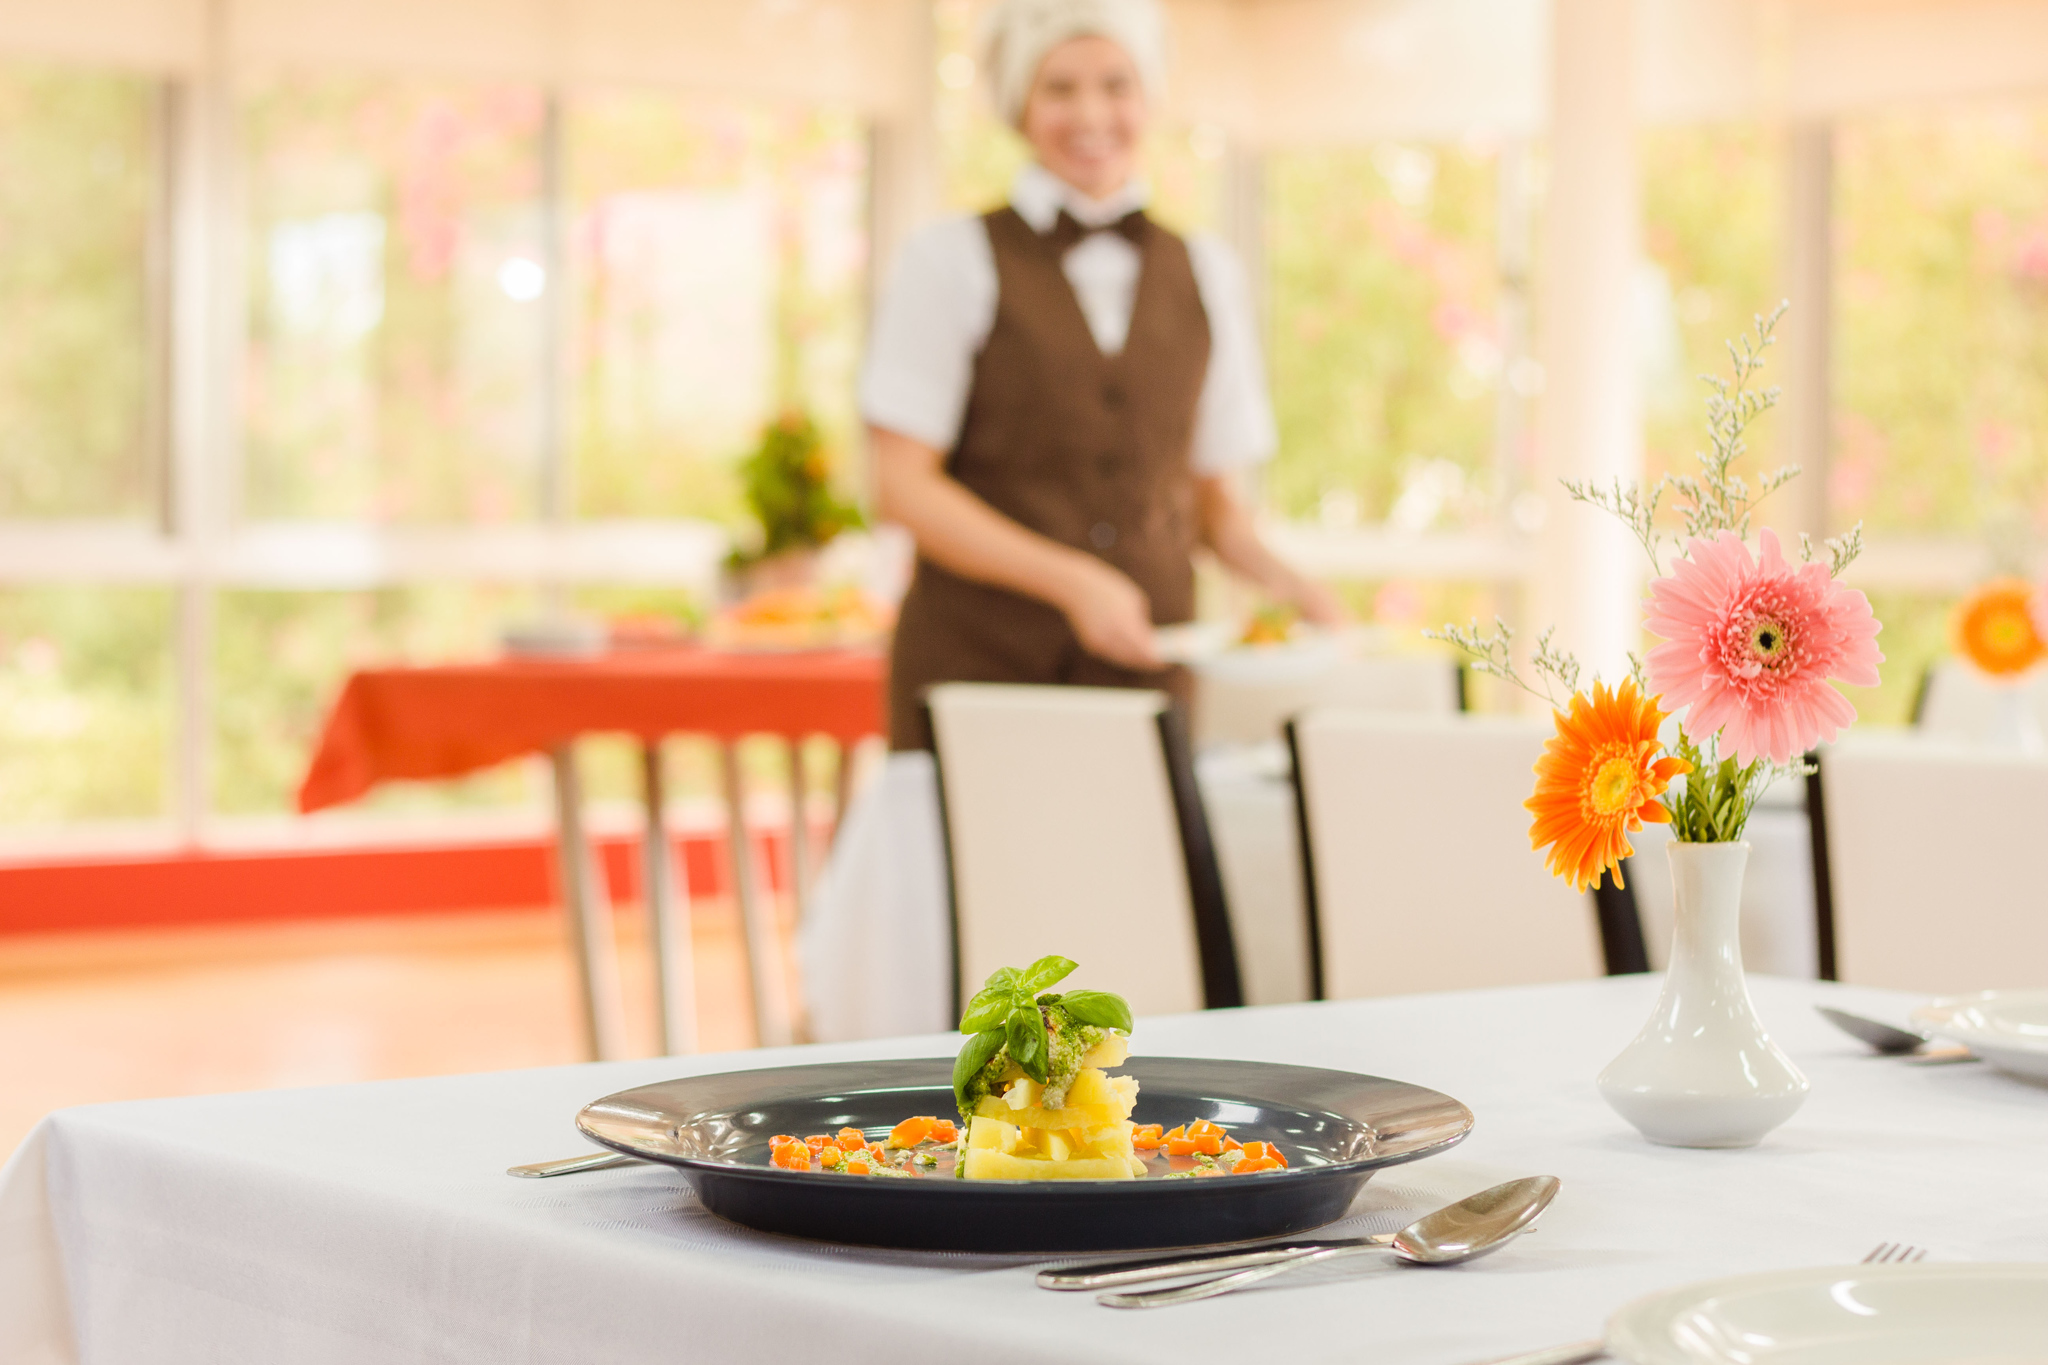
<instances>
[{"instance_id":1,"label":"glossy white ceramic bud vase holding the pink and orange gerberas","mask_svg":"<svg viewBox=\"0 0 2048 1365\"><path fill-rule=\"evenodd\" d=\"M1747 843L1673 839L1671 966L1657 1011L1599 1072L1616 1113L1665 1146L1755 1146L1806 1099L1743 980Z\"/></svg>"}]
</instances>

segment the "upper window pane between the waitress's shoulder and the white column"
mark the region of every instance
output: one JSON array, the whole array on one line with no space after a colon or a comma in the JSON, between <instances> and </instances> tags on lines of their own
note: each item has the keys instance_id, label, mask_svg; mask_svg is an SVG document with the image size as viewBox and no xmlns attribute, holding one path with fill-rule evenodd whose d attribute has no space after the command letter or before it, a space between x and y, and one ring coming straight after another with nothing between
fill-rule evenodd
<instances>
[{"instance_id":1,"label":"upper window pane between the waitress's shoulder and the white column","mask_svg":"<svg viewBox=\"0 0 2048 1365\"><path fill-rule=\"evenodd\" d=\"M1491 514L1497 160L1405 143L1268 160L1274 512L1409 532Z\"/></svg>"}]
</instances>

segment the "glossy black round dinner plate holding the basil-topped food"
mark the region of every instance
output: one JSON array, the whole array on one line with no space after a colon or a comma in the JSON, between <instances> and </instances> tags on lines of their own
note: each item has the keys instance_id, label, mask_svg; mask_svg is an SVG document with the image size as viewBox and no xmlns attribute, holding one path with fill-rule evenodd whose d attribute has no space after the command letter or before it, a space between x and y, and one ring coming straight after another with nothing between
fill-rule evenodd
<instances>
[{"instance_id":1,"label":"glossy black round dinner plate holding the basil-topped food","mask_svg":"<svg viewBox=\"0 0 2048 1365\"><path fill-rule=\"evenodd\" d=\"M596 1142L682 1169L713 1214L827 1242L926 1250L1077 1252L1290 1236L1343 1216L1382 1166L1458 1144L1473 1111L1403 1081L1315 1066L1130 1058L1139 1124L1212 1119L1276 1142L1286 1171L1200 1181L961 1181L780 1171L774 1134L858 1128L881 1140L915 1113L952 1115L952 1062L825 1062L684 1076L606 1095L575 1115ZM1163 1169L1155 1160L1155 1169Z\"/></svg>"}]
</instances>

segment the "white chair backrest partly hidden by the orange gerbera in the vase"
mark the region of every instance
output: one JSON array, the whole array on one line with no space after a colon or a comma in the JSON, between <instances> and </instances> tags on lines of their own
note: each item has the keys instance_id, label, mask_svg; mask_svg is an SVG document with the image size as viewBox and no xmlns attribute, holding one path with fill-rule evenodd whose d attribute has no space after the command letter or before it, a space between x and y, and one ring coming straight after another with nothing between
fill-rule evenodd
<instances>
[{"instance_id":1,"label":"white chair backrest partly hidden by the orange gerbera in the vase","mask_svg":"<svg viewBox=\"0 0 2048 1365\"><path fill-rule=\"evenodd\" d=\"M1550 726L1315 710L1288 726L1319 999L1599 976L1591 898L1530 851Z\"/></svg>"}]
</instances>

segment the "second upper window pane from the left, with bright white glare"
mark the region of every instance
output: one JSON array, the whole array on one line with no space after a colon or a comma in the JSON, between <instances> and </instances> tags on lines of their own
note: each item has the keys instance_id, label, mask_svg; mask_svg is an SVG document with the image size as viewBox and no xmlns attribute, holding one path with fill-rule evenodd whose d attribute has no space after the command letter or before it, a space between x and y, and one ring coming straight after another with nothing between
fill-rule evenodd
<instances>
[{"instance_id":1,"label":"second upper window pane from the left, with bright white glare","mask_svg":"<svg viewBox=\"0 0 2048 1365\"><path fill-rule=\"evenodd\" d=\"M532 516L541 94L297 76L242 115L248 514Z\"/></svg>"}]
</instances>

